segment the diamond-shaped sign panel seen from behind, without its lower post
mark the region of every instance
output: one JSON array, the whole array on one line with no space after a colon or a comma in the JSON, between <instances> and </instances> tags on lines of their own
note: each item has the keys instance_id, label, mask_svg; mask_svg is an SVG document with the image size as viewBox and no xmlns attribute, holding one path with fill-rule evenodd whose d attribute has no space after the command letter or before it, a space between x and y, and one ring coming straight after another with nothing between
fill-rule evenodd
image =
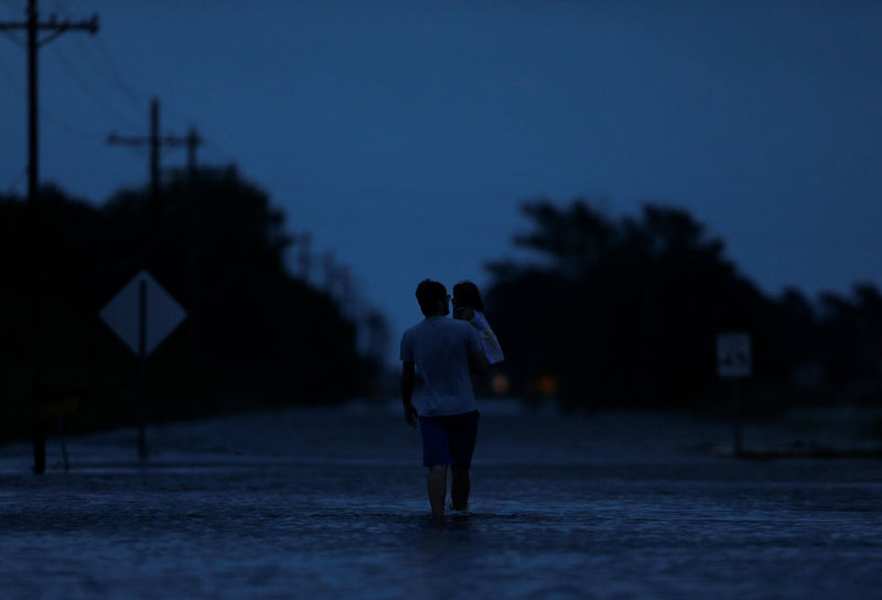
<instances>
[{"instance_id":1,"label":"diamond-shaped sign panel seen from behind, without its lower post","mask_svg":"<svg viewBox=\"0 0 882 600\"><path fill-rule=\"evenodd\" d=\"M136 354L141 349L143 318L143 351L148 357L181 325L186 312L150 273L141 271L101 308L100 317Z\"/></svg>"}]
</instances>

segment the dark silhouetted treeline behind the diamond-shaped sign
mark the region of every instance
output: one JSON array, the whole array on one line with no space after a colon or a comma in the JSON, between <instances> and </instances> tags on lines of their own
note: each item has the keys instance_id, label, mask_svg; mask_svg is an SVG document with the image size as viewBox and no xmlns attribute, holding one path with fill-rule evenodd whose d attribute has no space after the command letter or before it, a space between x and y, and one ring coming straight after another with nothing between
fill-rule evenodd
<instances>
[{"instance_id":1,"label":"dark silhouetted treeline behind the diamond-shaped sign","mask_svg":"<svg viewBox=\"0 0 882 600\"><path fill-rule=\"evenodd\" d=\"M289 274L282 214L235 170L200 170L158 195L122 190L100 207L41 189L36 343L29 219L22 198L0 197L0 439L30 430L34 364L44 388L85 392L69 427L132 422L137 360L98 315L141 270L187 312L149 359L150 418L329 402L368 383L354 324Z\"/></svg>"}]
</instances>

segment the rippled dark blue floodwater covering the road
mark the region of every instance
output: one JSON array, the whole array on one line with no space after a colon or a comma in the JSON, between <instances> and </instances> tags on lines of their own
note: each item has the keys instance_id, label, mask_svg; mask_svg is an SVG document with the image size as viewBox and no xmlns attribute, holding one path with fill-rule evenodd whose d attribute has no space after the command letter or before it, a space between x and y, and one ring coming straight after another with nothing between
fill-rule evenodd
<instances>
[{"instance_id":1,"label":"rippled dark blue floodwater covering the road","mask_svg":"<svg viewBox=\"0 0 882 600\"><path fill-rule=\"evenodd\" d=\"M129 430L68 438L68 471L50 439L44 476L2 447L0 598L882 598L882 461L483 406L470 511L441 525L395 403L151 427L143 466Z\"/></svg>"}]
</instances>

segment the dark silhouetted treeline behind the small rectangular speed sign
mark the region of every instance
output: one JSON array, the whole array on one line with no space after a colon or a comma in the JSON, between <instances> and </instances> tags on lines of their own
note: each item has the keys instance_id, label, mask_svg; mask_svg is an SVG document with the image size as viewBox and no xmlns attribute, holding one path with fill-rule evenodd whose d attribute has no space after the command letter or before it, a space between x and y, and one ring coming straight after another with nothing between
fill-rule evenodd
<instances>
[{"instance_id":1,"label":"dark silhouetted treeline behind the small rectangular speed sign","mask_svg":"<svg viewBox=\"0 0 882 600\"><path fill-rule=\"evenodd\" d=\"M488 265L494 329L513 390L568 406L725 406L716 339L752 338L753 413L795 404L882 404L882 296L872 285L816 302L768 297L687 211L646 206L612 219L583 200L524 205L534 261Z\"/></svg>"}]
</instances>

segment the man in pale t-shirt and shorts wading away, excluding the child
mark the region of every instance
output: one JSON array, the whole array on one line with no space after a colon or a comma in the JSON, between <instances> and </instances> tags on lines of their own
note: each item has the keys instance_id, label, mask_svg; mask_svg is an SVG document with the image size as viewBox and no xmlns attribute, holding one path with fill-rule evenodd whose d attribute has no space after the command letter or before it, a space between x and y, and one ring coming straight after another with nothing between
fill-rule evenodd
<instances>
[{"instance_id":1,"label":"man in pale t-shirt and shorts wading away, excluding the child","mask_svg":"<svg viewBox=\"0 0 882 600\"><path fill-rule=\"evenodd\" d=\"M472 372L487 370L477 330L469 323L447 318L450 295L431 280L417 286L417 302L426 318L401 337L401 400L408 425L420 426L422 463L429 468L432 516L444 519L448 467L452 469L453 510L469 505L469 468L477 438L478 412ZM413 405L416 370L423 379L419 410Z\"/></svg>"}]
</instances>

